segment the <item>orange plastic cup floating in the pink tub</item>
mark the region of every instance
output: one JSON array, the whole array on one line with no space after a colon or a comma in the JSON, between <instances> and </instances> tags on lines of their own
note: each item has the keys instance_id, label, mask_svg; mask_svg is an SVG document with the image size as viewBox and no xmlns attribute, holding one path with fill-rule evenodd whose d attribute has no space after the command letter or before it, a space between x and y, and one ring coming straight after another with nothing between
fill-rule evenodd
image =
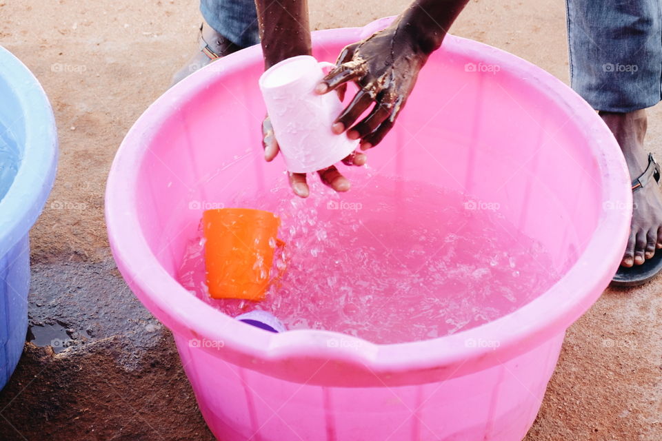
<instances>
[{"instance_id":1,"label":"orange plastic cup floating in the pink tub","mask_svg":"<svg viewBox=\"0 0 662 441\"><path fill-rule=\"evenodd\" d=\"M281 220L248 208L208 209L202 215L207 285L212 298L263 300Z\"/></svg>"}]
</instances>

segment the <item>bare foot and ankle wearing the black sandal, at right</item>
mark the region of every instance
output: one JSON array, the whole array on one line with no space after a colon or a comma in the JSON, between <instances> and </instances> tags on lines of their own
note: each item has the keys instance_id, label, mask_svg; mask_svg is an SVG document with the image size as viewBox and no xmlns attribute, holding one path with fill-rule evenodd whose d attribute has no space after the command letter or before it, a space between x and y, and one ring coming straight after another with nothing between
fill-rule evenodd
<instances>
[{"instance_id":1,"label":"bare foot and ankle wearing the black sandal, at right","mask_svg":"<svg viewBox=\"0 0 662 441\"><path fill-rule=\"evenodd\" d=\"M619 141L625 162L628 163L632 181L641 176L648 167L648 153L643 139L648 121L645 110L628 113L600 112L610 130ZM662 248L662 191L651 181L632 194L634 206L630 238L625 248L621 265L641 265Z\"/></svg>"}]
</instances>

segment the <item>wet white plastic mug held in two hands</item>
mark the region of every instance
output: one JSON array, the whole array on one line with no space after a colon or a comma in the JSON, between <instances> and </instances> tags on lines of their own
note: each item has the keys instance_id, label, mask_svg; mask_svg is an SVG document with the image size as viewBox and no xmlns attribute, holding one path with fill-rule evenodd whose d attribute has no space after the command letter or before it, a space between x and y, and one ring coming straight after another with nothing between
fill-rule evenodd
<instances>
[{"instance_id":1,"label":"wet white plastic mug held in two hands","mask_svg":"<svg viewBox=\"0 0 662 441\"><path fill-rule=\"evenodd\" d=\"M335 93L317 94L315 86L332 63L299 55L272 65L260 76L260 90L274 128L285 166L290 172L325 169L348 156L359 145L331 126L343 104Z\"/></svg>"}]
</instances>

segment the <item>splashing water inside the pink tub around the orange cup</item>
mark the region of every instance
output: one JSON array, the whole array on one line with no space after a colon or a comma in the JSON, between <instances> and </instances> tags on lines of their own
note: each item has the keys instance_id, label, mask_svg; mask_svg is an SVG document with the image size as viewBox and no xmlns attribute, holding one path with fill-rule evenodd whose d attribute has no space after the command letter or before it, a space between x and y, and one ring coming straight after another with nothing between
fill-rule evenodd
<instances>
[{"instance_id":1,"label":"splashing water inside the pink tub around the orange cup","mask_svg":"<svg viewBox=\"0 0 662 441\"><path fill-rule=\"evenodd\" d=\"M497 203L426 183L374 174L341 196L317 184L301 199L283 179L232 206L281 218L286 245L276 249L266 300L209 297L201 232L179 281L233 317L263 309L288 329L423 340L508 314L559 278L541 245L508 223Z\"/></svg>"}]
</instances>

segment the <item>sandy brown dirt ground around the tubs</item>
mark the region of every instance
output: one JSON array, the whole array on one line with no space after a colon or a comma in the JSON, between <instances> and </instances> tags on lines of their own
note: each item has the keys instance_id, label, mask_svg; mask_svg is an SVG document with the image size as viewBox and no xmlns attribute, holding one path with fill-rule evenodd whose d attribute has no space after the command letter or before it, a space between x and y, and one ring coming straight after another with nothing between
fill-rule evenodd
<instances>
[{"instance_id":1,"label":"sandy brown dirt ground around the tubs","mask_svg":"<svg viewBox=\"0 0 662 441\"><path fill-rule=\"evenodd\" d=\"M312 25L363 25L406 3L311 0ZM61 148L55 187L31 234L30 322L70 336L59 353L26 345L0 393L0 440L213 439L172 336L114 268L103 222L114 153L197 48L200 21L195 0L0 0L0 44L46 89ZM561 0L472 0L452 32L568 81ZM656 107L648 145L658 157L660 141ZM57 209L56 201L77 209ZM608 289L570 328L528 441L662 440L660 291L662 278Z\"/></svg>"}]
</instances>

